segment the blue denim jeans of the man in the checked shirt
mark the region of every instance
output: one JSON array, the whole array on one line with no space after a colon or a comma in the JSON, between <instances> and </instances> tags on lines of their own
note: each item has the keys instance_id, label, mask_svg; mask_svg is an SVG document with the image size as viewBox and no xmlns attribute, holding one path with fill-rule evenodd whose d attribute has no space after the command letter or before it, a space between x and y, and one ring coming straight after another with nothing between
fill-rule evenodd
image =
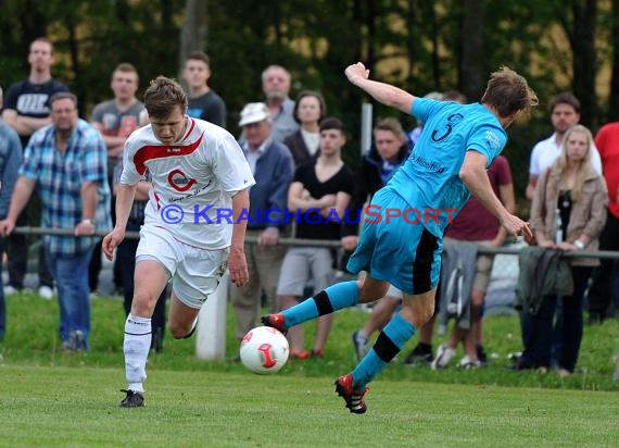
<instances>
[{"instance_id":1,"label":"blue denim jeans of the man in the checked shirt","mask_svg":"<svg viewBox=\"0 0 619 448\"><path fill-rule=\"evenodd\" d=\"M55 256L46 247L48 264L55 279L60 304L60 337L70 343L73 332L80 331L88 348L90 335L90 289L88 264L94 246L73 256Z\"/></svg>"}]
</instances>

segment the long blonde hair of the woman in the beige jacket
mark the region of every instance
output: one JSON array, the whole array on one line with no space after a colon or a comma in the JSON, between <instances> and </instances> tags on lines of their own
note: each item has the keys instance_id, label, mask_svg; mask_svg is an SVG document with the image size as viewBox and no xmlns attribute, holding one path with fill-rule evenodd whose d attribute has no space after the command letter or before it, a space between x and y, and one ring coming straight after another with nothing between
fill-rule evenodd
<instances>
[{"instance_id":1,"label":"long blonde hair of the woman in the beige jacket","mask_svg":"<svg viewBox=\"0 0 619 448\"><path fill-rule=\"evenodd\" d=\"M578 202L582 196L582 187L584 186L584 181L586 179L588 174L591 170L591 152L593 147L593 135L591 130L581 124L577 124L570 127L564 135L564 139L561 141L561 153L553 163L551 167L551 172L548 174L548 192L556 194L559 188L559 182L561 177L567 172L568 167L568 154L567 154L567 142L569 141L570 136L573 133L581 133L584 134L586 137L588 150L584 154L584 158L579 162L579 166L576 172L576 182L573 188L571 189L571 200Z\"/></svg>"}]
</instances>

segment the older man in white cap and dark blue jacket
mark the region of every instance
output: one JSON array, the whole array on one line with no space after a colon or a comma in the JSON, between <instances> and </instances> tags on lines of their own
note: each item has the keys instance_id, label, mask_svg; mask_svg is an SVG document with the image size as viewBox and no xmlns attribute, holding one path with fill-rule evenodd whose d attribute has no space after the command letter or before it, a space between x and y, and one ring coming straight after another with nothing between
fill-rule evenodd
<instances>
[{"instance_id":1,"label":"older man in white cap and dark blue jacket","mask_svg":"<svg viewBox=\"0 0 619 448\"><path fill-rule=\"evenodd\" d=\"M257 238L257 244L245 244L244 249L249 283L231 289L236 336L241 340L257 324L263 289L269 312L277 311L276 287L286 254L279 236L288 227L286 208L294 163L288 148L273 140L271 117L264 102L247 104L239 126L243 129L241 148L256 181L250 190L247 235Z\"/></svg>"}]
</instances>

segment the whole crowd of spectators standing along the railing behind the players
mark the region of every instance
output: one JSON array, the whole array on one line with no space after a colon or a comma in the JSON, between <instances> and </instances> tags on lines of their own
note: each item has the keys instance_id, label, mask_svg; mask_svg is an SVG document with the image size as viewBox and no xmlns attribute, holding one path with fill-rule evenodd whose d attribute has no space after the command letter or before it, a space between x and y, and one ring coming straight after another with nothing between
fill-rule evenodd
<instances>
[{"instance_id":1,"label":"whole crowd of spectators standing along the railing behind the players","mask_svg":"<svg viewBox=\"0 0 619 448\"><path fill-rule=\"evenodd\" d=\"M73 235L42 237L37 294L46 300L58 298L62 349L85 351L90 347L90 298L98 291L101 271L101 238L96 235L112 228L115 221L127 138L150 124L137 98L139 75L134 65L123 62L115 67L110 80L113 97L83 120L78 98L52 77L53 58L52 42L36 39L27 58L28 77L5 88L3 98L0 89L0 242L8 278L0 284L0 340L8 324L5 296L24 288L28 262L28 236L12 231L27 225L39 208L40 226L71 229ZM187 114L225 127L229 111L209 85L209 55L190 53L181 76ZM342 160L346 124L328 114L320 91L302 90L293 99L291 85L291 74L283 66L269 65L262 73L263 98L238 111L238 144L255 179L249 192L247 235L257 241L245 242L249 282L233 287L230 295L239 340L258 324L263 308L269 313L288 309L312 290L337 282L336 273L345 269L342 260L357 245L366 204L414 157L424 128L418 123L414 129L403 129L393 117L376 120L371 147L363 148L355 172ZM466 102L456 91L431 92L426 98ZM584 315L591 323L603 322L619 303L618 261L560 257L565 251L619 250L619 123L608 123L594 134L579 124L580 103L572 94L560 92L546 102L553 134L540 140L530 155L526 196L536 246L521 252L520 264L535 269L520 272L517 307L522 351L514 356L513 368L556 369L568 376L578 364ZM494 192L513 212L516 200L508 160L500 157L487 169ZM170 173L168 178L173 177ZM188 181L169 182L191 192ZM147 173L138 185L127 231L140 231L147 201L156 200L150 192L151 182ZM281 238L334 240L341 247L287 247ZM459 211L445 234L434 315L419 329L417 346L404 358L406 364L446 369L460 343L459 368L478 369L488 362L483 314L493 258L478 250L500 248L506 240L501 223L476 199ZM124 296L127 314L136 250L137 240L126 239L114 260L114 284ZM563 275L565 282L557 279L561 288L546 287L548 282L535 282L540 275ZM169 288L164 289L153 314L154 351L163 350L169 295ZM352 335L359 359L367 353L371 335L387 324L401 301L402 293L391 287L376 302L364 327ZM320 316L310 344L302 325L290 328L291 358L325 357L337 319ZM437 321L454 321L454 325L447 343L434 350Z\"/></svg>"}]
</instances>

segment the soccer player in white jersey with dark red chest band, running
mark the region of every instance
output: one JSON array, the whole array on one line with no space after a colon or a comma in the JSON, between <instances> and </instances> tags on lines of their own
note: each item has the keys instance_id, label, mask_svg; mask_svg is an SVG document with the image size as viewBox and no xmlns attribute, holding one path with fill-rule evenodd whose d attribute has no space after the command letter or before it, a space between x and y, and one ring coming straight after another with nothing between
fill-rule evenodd
<instances>
[{"instance_id":1,"label":"soccer player in white jersey with dark red chest band, running","mask_svg":"<svg viewBox=\"0 0 619 448\"><path fill-rule=\"evenodd\" d=\"M103 238L103 251L111 260L125 237L136 187L148 170L152 188L136 252L131 312L125 323L124 408L144 403L151 315L166 284L172 282L169 331L178 339L191 336L200 308L226 267L235 285L249 279L243 215L255 181L236 139L222 127L187 116L182 88L166 77L151 82L144 105L151 124L134 132L125 144L116 225Z\"/></svg>"}]
</instances>

